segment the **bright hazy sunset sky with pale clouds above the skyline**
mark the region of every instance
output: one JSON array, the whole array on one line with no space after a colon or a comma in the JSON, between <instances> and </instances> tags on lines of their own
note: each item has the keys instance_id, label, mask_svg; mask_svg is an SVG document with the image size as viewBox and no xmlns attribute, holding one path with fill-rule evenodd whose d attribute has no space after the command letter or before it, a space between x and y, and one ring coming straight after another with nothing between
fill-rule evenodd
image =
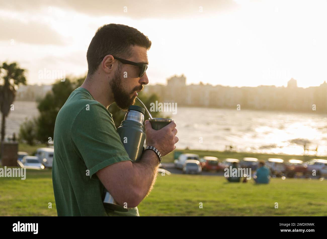
<instances>
[{"instance_id":1,"label":"bright hazy sunset sky with pale clouds above the skyline","mask_svg":"<svg viewBox=\"0 0 327 239\"><path fill-rule=\"evenodd\" d=\"M149 84L319 86L327 80L327 1L0 0L0 63L18 62L28 84L40 72L87 73L98 27L126 24L152 41ZM60 77L58 77L60 78Z\"/></svg>"}]
</instances>

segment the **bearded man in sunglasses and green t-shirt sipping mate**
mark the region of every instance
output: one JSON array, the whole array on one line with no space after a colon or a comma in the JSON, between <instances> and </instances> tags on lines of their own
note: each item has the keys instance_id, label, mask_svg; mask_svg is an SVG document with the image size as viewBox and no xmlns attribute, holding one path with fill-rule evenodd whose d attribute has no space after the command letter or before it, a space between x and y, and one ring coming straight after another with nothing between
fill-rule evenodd
<instances>
[{"instance_id":1,"label":"bearded man in sunglasses and green t-shirt sipping mate","mask_svg":"<svg viewBox=\"0 0 327 239\"><path fill-rule=\"evenodd\" d=\"M120 24L100 27L87 51L88 74L60 109L54 132L53 189L57 213L69 216L138 216L137 205L156 180L159 158L152 150L133 162L124 149L108 107L123 110L135 103L136 91L148 84L147 50L151 41ZM126 61L128 60L128 61ZM178 138L175 122L153 130L146 120L146 144L162 156ZM128 212L105 209L105 189Z\"/></svg>"}]
</instances>

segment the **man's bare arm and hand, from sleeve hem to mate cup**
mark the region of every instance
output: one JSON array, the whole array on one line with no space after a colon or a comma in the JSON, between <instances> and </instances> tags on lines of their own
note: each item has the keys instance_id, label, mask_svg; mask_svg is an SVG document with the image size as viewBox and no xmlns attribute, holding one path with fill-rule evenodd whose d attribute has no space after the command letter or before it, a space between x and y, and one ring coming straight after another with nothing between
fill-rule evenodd
<instances>
[{"instance_id":1,"label":"man's bare arm and hand, from sleeve hem to mate cup","mask_svg":"<svg viewBox=\"0 0 327 239\"><path fill-rule=\"evenodd\" d=\"M146 144L156 147L162 156L170 153L178 141L175 127L175 121L172 121L161 130L154 130L146 120ZM118 162L97 171L96 175L119 205L127 203L128 207L136 207L151 191L157 168L157 155L146 150L139 162Z\"/></svg>"}]
</instances>

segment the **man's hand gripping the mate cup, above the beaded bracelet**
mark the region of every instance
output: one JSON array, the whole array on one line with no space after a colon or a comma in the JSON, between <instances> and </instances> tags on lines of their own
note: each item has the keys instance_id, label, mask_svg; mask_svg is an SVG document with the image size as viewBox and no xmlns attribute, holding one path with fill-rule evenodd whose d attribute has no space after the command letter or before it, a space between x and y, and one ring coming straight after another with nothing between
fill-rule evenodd
<instances>
[{"instance_id":1,"label":"man's hand gripping the mate cup, above the beaded bracelet","mask_svg":"<svg viewBox=\"0 0 327 239\"><path fill-rule=\"evenodd\" d=\"M161 156L165 156L174 149L176 149L175 144L178 142L176 123L173 120L168 125L160 130L154 130L151 127L149 120L145 121L146 130L146 145L153 146L157 148Z\"/></svg>"}]
</instances>

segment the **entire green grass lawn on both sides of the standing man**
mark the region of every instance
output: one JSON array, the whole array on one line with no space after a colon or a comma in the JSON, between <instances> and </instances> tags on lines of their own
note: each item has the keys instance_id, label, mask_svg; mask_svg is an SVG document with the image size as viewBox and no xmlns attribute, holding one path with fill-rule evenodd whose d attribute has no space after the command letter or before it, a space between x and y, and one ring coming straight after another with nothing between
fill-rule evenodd
<instances>
[{"instance_id":1,"label":"entire green grass lawn on both sides of the standing man","mask_svg":"<svg viewBox=\"0 0 327 239\"><path fill-rule=\"evenodd\" d=\"M26 180L0 178L0 216L57 215L51 170L26 173ZM252 180L228 183L222 176L159 174L151 194L138 208L141 216L326 216L326 188L327 180L317 179L278 178L268 185L254 185Z\"/></svg>"}]
</instances>

